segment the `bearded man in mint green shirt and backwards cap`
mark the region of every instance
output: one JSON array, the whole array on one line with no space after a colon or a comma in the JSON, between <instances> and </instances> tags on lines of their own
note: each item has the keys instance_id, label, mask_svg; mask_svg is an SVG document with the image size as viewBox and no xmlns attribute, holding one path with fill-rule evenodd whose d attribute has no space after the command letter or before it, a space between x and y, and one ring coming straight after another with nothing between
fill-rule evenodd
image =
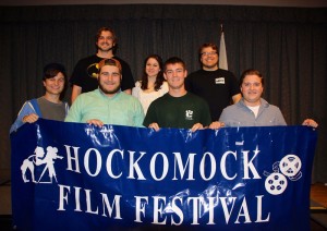
<instances>
[{"instance_id":1,"label":"bearded man in mint green shirt and backwards cap","mask_svg":"<svg viewBox=\"0 0 327 231\"><path fill-rule=\"evenodd\" d=\"M65 122L142 126L144 111L133 96L121 92L122 68L116 59L98 63L98 88L81 94L72 105Z\"/></svg>"}]
</instances>

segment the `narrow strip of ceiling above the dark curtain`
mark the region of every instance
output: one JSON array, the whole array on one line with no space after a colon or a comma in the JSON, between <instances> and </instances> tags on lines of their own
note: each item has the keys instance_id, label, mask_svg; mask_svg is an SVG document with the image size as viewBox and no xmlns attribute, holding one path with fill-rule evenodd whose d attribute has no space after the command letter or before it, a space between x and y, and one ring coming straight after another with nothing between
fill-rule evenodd
<instances>
[{"instance_id":1,"label":"narrow strip of ceiling above the dark curtain","mask_svg":"<svg viewBox=\"0 0 327 231\"><path fill-rule=\"evenodd\" d=\"M326 0L0 0L0 5L60 4L225 4L326 8Z\"/></svg>"}]
</instances>

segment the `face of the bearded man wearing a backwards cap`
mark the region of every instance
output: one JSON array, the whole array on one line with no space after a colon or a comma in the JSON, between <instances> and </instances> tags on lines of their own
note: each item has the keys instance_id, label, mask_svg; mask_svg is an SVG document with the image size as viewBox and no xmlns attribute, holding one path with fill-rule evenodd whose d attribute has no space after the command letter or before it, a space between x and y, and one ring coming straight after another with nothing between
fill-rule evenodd
<instances>
[{"instance_id":1,"label":"face of the bearded man wearing a backwards cap","mask_svg":"<svg viewBox=\"0 0 327 231\"><path fill-rule=\"evenodd\" d=\"M114 65L104 65L100 69L98 83L99 88L109 97L120 90L121 74Z\"/></svg>"}]
</instances>

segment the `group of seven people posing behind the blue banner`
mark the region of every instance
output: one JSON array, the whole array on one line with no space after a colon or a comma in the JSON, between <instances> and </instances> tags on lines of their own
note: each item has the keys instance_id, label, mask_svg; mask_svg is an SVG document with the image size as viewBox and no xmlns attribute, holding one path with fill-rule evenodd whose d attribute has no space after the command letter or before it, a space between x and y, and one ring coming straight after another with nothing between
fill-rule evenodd
<instances>
[{"instance_id":1,"label":"group of seven people posing behind the blue banner","mask_svg":"<svg viewBox=\"0 0 327 231\"><path fill-rule=\"evenodd\" d=\"M80 60L70 78L71 108L62 101L68 85L65 69L60 63L49 63L44 68L45 95L24 104L10 132L40 117L156 131L286 125L279 108L262 98L262 74L246 70L238 83L231 72L218 68L215 44L201 46L202 69L189 75L184 61L178 57L164 63L159 56L148 56L136 83L130 65L116 56L118 39L111 28L100 28L95 44L97 53ZM318 126L312 119L302 124Z\"/></svg>"}]
</instances>

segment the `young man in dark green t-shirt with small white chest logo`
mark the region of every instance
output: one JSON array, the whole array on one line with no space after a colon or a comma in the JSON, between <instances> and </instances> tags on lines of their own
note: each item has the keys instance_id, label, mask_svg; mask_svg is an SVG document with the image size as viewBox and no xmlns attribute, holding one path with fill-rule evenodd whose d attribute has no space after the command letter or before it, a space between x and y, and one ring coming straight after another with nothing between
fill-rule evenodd
<instances>
[{"instance_id":1,"label":"young man in dark green t-shirt with small white chest logo","mask_svg":"<svg viewBox=\"0 0 327 231\"><path fill-rule=\"evenodd\" d=\"M187 75L185 63L178 57L165 63L164 77L169 92L153 101L143 125L158 131L160 127L191 129L192 132L208 126L211 122L207 102L184 87Z\"/></svg>"}]
</instances>

